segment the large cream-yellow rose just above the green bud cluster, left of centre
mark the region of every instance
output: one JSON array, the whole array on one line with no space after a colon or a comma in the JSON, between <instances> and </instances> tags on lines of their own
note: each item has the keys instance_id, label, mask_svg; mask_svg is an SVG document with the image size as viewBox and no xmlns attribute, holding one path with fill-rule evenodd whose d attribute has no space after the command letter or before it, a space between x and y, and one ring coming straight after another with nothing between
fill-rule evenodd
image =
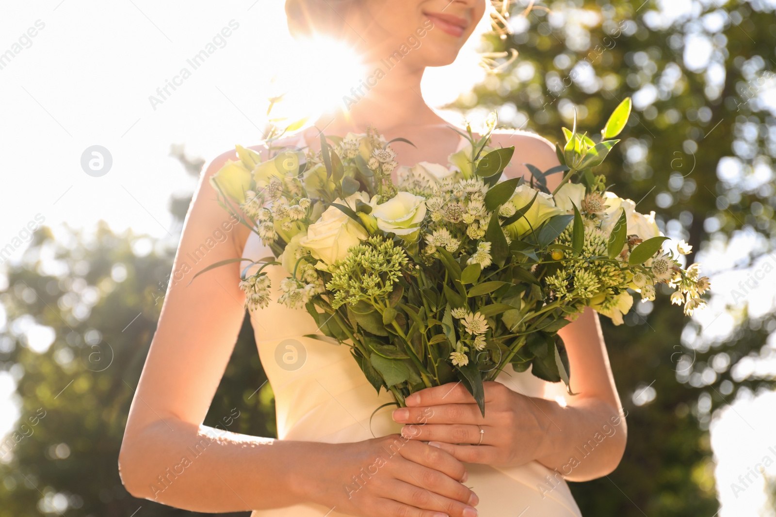
<instances>
[{"instance_id":1,"label":"large cream-yellow rose just above the green bud cluster, left of centre","mask_svg":"<svg viewBox=\"0 0 776 517\"><path fill-rule=\"evenodd\" d=\"M356 192L345 198L345 201L337 198L338 205L348 205L355 209L355 202L369 201L365 192ZM358 222L348 217L336 206L329 206L320 215L320 219L307 228L307 235L300 238L301 246L306 247L313 257L322 260L324 264L334 264L348 256L348 249L362 240L366 240L369 234Z\"/></svg>"}]
</instances>

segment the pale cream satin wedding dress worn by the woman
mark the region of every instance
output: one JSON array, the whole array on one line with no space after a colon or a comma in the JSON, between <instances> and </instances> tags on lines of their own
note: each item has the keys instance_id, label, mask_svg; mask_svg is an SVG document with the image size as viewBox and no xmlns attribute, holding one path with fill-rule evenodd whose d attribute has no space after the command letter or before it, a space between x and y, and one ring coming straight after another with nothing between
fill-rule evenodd
<instances>
[{"instance_id":1,"label":"pale cream satin wedding dress worn by the woman","mask_svg":"<svg viewBox=\"0 0 776 517\"><path fill-rule=\"evenodd\" d=\"M242 256L258 260L269 255L270 250L251 233ZM264 271L272 280L272 301L268 307L251 312L251 322L262 366L275 393L278 439L349 443L372 439L372 433L400 433L401 425L391 419L395 406L380 409L370 431L370 415L380 405L393 402L393 396L385 389L376 394L348 346L304 337L318 332L310 314L304 308L291 309L277 303L279 281L286 272L280 266L268 266ZM566 395L563 383L541 381L529 372L517 374L511 367L497 381L531 397L555 399ZM555 472L535 461L521 467L466 464L466 469L466 486L480 498L476 507L480 517L581 515L566 483L557 481ZM352 480L342 480L343 491L348 482ZM251 517L341 515L345 514L337 508L307 503L258 510Z\"/></svg>"}]
</instances>

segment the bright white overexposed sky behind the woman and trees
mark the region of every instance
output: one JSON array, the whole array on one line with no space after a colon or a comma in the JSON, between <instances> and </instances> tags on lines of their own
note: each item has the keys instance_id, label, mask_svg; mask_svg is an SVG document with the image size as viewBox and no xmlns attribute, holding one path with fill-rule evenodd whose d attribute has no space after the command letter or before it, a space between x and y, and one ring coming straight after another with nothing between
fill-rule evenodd
<instances>
[{"instance_id":1,"label":"bright white overexposed sky behind the woman and trees","mask_svg":"<svg viewBox=\"0 0 776 517\"><path fill-rule=\"evenodd\" d=\"M0 60L0 247L36 216L49 226L93 228L105 219L116 230L175 234L168 200L172 193L192 191L194 181L169 156L171 144L185 144L190 156L211 160L235 143L257 143L267 98L300 79L315 89L312 94L296 90L289 105L303 106L300 99L307 99L303 109L310 111L341 102L338 88L348 91L355 82L348 77L347 61L331 47L295 46L282 4L53 0L6 7L0 16L0 56L6 50L15 55L9 62ZM423 90L431 105L450 102L482 80L472 47L451 67L428 73ZM194 67L187 60L202 50L212 53ZM332 67L343 72L332 74ZM168 86L162 98L158 88L168 81L175 89ZM450 120L459 122L459 117L450 115ZM99 177L81 164L94 158L91 149L84 158L92 146L102 146L112 160ZM722 262L712 263L712 269L723 269ZM731 302L746 273L715 277L721 298ZM764 287L774 285L774 273L767 278L763 291L743 294L747 301L757 300L760 310L773 303L773 289ZM711 322L709 333L716 336L733 323L720 304L699 318ZM4 320L0 311L0 329ZM52 341L47 330L29 329L30 345L46 350ZM0 373L0 435L13 429L18 417L12 400L17 373ZM776 460L776 453L768 452L776 440L769 442L773 433L765 432L774 429L773 407L772 395L742 400L712 426L724 502L720 515L754 515L763 501L760 485L733 497L728 477L745 474L767 454Z\"/></svg>"}]
</instances>

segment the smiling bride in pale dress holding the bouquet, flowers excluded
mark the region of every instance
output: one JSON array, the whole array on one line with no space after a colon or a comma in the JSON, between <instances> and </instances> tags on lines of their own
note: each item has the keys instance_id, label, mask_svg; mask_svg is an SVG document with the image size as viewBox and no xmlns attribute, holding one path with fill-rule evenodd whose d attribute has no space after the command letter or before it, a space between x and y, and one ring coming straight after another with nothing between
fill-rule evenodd
<instances>
[{"instance_id":1,"label":"smiling bride in pale dress holding the bouquet, flowers excluded","mask_svg":"<svg viewBox=\"0 0 776 517\"><path fill-rule=\"evenodd\" d=\"M345 135L373 126L387 140L401 136L417 145L395 144L400 165L447 164L464 142L424 103L421 76L425 67L455 60L486 4L287 0L295 36L324 33L352 44L370 70L396 57L348 112L317 127ZM399 58L407 41L412 48ZM315 148L318 135L310 127L280 144ZM532 133L496 132L491 145L515 147L507 177L528 178L524 163L542 170L558 164L553 146ZM208 180L229 159L234 151L203 174L174 271L225 224ZM210 250L210 262L272 254L244 226L223 229L229 240ZM170 284L119 458L132 495L197 512L254 510L254 517L553 517L580 515L566 480L591 480L617 467L625 420L589 308L560 332L577 395L508 368L485 385L485 417L458 383L424 389L407 398L408 408L386 406L370 419L390 394L376 395L347 346L305 337L318 332L306 311L273 300L253 308L251 322L275 393L279 438L203 426L244 316L242 265L219 267L188 286ZM285 275L279 266L265 271L273 285ZM286 360L288 353L296 362Z\"/></svg>"}]
</instances>

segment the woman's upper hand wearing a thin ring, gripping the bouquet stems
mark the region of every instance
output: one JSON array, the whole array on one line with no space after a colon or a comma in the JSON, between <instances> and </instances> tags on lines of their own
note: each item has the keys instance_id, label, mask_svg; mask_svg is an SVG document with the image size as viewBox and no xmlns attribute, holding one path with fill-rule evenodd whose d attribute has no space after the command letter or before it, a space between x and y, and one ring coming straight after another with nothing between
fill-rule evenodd
<instances>
[{"instance_id":1,"label":"woman's upper hand wearing a thin ring, gripping the bouquet stems","mask_svg":"<svg viewBox=\"0 0 776 517\"><path fill-rule=\"evenodd\" d=\"M532 398L500 382L483 384L484 417L469 391L457 382L410 395L406 399L409 407L395 410L393 419L409 423L428 415L425 425L404 426L402 435L438 444L467 463L515 466L542 457L548 426L552 426L549 418Z\"/></svg>"}]
</instances>

